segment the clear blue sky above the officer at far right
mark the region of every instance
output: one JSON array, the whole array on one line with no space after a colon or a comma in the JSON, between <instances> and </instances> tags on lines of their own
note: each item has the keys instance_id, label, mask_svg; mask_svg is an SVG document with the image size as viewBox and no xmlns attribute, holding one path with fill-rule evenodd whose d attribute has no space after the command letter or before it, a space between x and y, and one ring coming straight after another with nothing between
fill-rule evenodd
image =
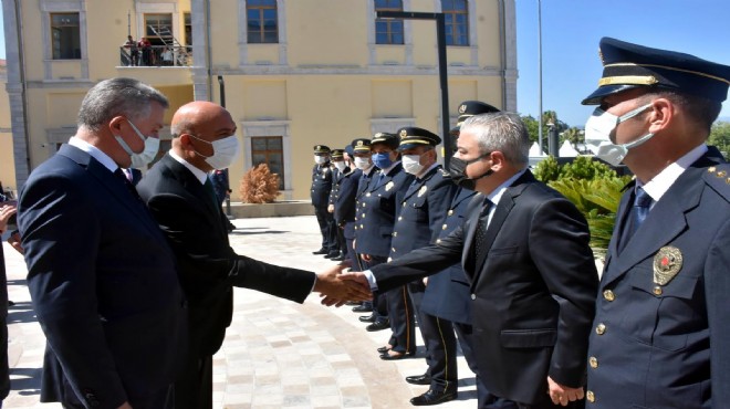
<instances>
[{"instance_id":1,"label":"clear blue sky above the officer at far right","mask_svg":"<svg viewBox=\"0 0 730 409\"><path fill-rule=\"evenodd\" d=\"M487 1L487 0L473 0ZM496 0L490 0L496 1ZM728 0L542 0L542 108L582 127L593 107L581 101L597 86L602 36L680 51L730 65ZM539 0L515 0L518 112L538 117ZM0 15L2 10L0 9ZM6 57L0 18L0 59ZM720 116L730 120L730 102Z\"/></svg>"}]
</instances>

